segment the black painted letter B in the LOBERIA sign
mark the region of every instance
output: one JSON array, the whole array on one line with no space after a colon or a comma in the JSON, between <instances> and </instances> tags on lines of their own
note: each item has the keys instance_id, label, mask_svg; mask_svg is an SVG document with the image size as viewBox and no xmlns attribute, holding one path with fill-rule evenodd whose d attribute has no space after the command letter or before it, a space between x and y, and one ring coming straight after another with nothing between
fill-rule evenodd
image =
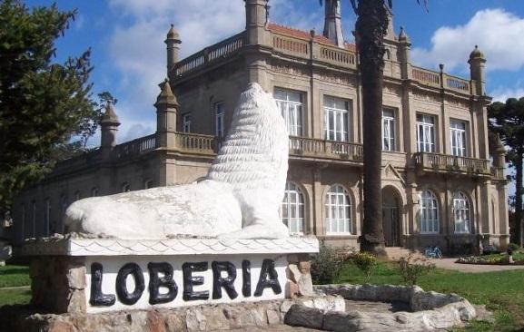
<instances>
[{"instance_id":1,"label":"black painted letter B in the LOBERIA sign","mask_svg":"<svg viewBox=\"0 0 524 332\"><path fill-rule=\"evenodd\" d=\"M173 267L169 263L149 263L149 303L167 303L173 301L178 294L178 287L173 280ZM158 272L163 273L163 278L158 277ZM168 289L167 294L160 294L159 288Z\"/></svg>"}]
</instances>

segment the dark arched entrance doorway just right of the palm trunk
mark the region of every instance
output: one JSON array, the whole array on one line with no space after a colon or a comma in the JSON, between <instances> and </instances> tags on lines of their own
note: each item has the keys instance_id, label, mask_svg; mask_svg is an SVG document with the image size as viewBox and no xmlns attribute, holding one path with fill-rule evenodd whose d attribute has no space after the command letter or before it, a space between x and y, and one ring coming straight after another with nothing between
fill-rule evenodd
<instances>
[{"instance_id":1,"label":"dark arched entrance doorway just right of the palm trunk","mask_svg":"<svg viewBox=\"0 0 524 332\"><path fill-rule=\"evenodd\" d=\"M382 226L386 247L400 247L401 206L397 190L382 189Z\"/></svg>"}]
</instances>

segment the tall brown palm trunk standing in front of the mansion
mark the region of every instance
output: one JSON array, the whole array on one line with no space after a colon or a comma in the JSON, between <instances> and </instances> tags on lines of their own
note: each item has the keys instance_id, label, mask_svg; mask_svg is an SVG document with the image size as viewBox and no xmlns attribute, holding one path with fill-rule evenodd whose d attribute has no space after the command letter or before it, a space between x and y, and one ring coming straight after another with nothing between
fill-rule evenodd
<instances>
[{"instance_id":1,"label":"tall brown palm trunk standing in front of the mansion","mask_svg":"<svg viewBox=\"0 0 524 332\"><path fill-rule=\"evenodd\" d=\"M361 0L356 24L360 55L364 143L364 222L361 250L385 256L382 228L383 39L388 26L383 0Z\"/></svg>"}]
</instances>

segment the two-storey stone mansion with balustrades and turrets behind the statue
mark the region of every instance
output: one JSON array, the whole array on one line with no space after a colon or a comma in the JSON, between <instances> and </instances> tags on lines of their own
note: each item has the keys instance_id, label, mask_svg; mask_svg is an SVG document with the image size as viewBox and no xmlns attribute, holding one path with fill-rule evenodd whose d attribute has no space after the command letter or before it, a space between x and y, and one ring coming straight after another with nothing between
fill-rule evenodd
<instances>
[{"instance_id":1,"label":"two-storey stone mansion with balustrades and turrets behind the statue","mask_svg":"<svg viewBox=\"0 0 524 332\"><path fill-rule=\"evenodd\" d=\"M240 1L240 0L237 0ZM57 164L15 200L15 240L64 231L74 200L200 181L248 83L272 93L290 133L282 222L293 234L359 248L362 108L358 45L344 41L340 1L326 1L323 34L268 19L266 0L244 0L245 30L179 59L174 27L152 135L116 145L111 105L98 150ZM190 38L191 36L186 36ZM470 54L470 78L410 62L410 38L385 38L382 197L386 246L444 252L502 249L509 242L504 148L489 137L486 59ZM143 227L147 227L146 224Z\"/></svg>"}]
</instances>

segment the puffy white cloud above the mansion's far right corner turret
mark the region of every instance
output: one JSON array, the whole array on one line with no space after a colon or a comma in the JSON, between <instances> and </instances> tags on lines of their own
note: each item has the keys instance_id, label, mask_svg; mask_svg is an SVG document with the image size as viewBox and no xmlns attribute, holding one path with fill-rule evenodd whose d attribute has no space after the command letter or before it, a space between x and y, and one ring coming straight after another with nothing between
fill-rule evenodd
<instances>
[{"instance_id":1,"label":"puffy white cloud above the mansion's far right corner turret","mask_svg":"<svg viewBox=\"0 0 524 332\"><path fill-rule=\"evenodd\" d=\"M415 63L448 71L466 71L474 45L486 55L488 71L519 71L524 67L524 18L504 9L484 9L464 25L440 27L431 37L431 48L414 48Z\"/></svg>"}]
</instances>

